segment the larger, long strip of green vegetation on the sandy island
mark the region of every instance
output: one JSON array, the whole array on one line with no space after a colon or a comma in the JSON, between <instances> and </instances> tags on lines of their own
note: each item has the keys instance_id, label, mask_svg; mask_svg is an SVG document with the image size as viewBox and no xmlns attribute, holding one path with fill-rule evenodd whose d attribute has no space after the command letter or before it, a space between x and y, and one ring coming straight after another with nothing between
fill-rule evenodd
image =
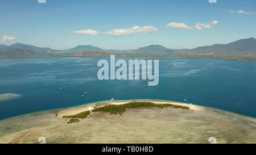
<instances>
[{"instance_id":1,"label":"larger, long strip of green vegetation on the sandy island","mask_svg":"<svg viewBox=\"0 0 256 155\"><path fill-rule=\"evenodd\" d=\"M130 102L126 104L120 104L120 105L110 104L108 106L94 108L92 112L106 112L109 114L122 115L123 112L126 111L126 108L150 108L150 107L155 107L155 108L171 107L171 108L182 108L187 110L189 109L189 107L179 106L175 104L155 104L152 102Z\"/></svg>"}]
</instances>

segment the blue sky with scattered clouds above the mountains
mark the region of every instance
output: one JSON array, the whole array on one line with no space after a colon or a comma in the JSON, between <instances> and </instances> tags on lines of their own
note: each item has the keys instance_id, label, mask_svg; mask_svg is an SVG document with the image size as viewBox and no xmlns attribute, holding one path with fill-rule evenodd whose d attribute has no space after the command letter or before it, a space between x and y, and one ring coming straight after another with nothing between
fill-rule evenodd
<instances>
[{"instance_id":1,"label":"blue sky with scattered clouds above the mountains","mask_svg":"<svg viewBox=\"0 0 256 155\"><path fill-rule=\"evenodd\" d=\"M0 44L195 48L256 37L255 12L255 0L1 0Z\"/></svg>"}]
</instances>

